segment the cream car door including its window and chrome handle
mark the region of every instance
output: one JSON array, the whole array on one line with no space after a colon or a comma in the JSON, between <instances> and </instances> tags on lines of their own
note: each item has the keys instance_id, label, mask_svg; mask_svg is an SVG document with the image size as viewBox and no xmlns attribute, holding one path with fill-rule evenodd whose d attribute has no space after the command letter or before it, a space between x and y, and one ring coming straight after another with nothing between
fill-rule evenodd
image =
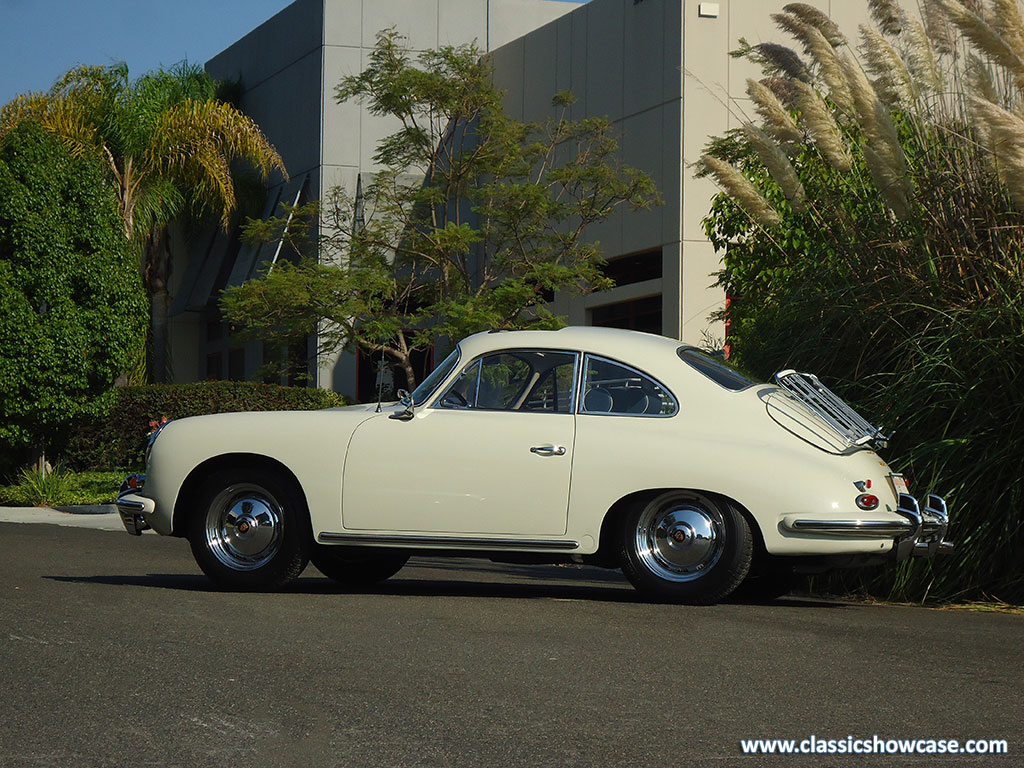
<instances>
[{"instance_id":1,"label":"cream car door including its window and chrome handle","mask_svg":"<svg viewBox=\"0 0 1024 768\"><path fill-rule=\"evenodd\" d=\"M409 421L364 422L349 444L342 524L453 536L565 532L575 437L573 352L469 361Z\"/></svg>"}]
</instances>

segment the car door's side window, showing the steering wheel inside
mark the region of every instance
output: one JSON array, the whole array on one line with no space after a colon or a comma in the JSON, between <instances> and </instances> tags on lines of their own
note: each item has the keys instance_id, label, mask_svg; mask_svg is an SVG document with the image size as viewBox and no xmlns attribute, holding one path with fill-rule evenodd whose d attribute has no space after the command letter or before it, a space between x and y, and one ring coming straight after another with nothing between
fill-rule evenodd
<instances>
[{"instance_id":1,"label":"car door's side window, showing the steering wheel inside","mask_svg":"<svg viewBox=\"0 0 1024 768\"><path fill-rule=\"evenodd\" d=\"M577 355L508 350L474 360L440 398L441 408L572 413Z\"/></svg>"}]
</instances>

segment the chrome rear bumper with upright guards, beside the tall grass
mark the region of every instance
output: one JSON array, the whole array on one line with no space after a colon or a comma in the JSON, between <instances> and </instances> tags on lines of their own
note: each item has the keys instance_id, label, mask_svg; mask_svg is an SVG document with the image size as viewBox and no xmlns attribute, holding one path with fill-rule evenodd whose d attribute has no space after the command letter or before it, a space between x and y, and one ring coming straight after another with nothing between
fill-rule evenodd
<instances>
[{"instance_id":1,"label":"chrome rear bumper with upright guards, beside the tall grass","mask_svg":"<svg viewBox=\"0 0 1024 768\"><path fill-rule=\"evenodd\" d=\"M893 539L890 557L935 557L953 551L945 540L949 528L949 511L941 496L929 494L925 508L909 494L899 495L896 513L902 520L813 520L786 517L782 527L795 534L846 537L853 539Z\"/></svg>"}]
</instances>

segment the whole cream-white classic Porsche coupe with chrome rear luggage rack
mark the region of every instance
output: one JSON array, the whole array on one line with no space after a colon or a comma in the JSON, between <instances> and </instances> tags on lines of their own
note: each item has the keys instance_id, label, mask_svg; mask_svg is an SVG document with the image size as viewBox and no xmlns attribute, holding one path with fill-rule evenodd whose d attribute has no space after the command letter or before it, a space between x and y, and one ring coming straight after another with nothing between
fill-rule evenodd
<instances>
[{"instance_id":1,"label":"whole cream-white classic Porsche coupe with chrome rear luggage rack","mask_svg":"<svg viewBox=\"0 0 1024 768\"><path fill-rule=\"evenodd\" d=\"M951 550L945 503L919 505L884 441L808 374L759 384L629 331L489 332L383 408L170 422L117 506L230 589L310 559L367 586L419 552L621 567L655 599L713 603Z\"/></svg>"}]
</instances>

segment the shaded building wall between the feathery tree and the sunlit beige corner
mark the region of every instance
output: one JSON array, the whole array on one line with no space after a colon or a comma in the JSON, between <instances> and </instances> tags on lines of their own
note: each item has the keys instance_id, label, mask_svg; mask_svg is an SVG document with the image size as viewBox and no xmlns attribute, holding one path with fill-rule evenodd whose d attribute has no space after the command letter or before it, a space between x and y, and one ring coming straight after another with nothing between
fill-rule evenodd
<instances>
[{"instance_id":1,"label":"shaded building wall between the feathery tree and the sunlit beige corner","mask_svg":"<svg viewBox=\"0 0 1024 768\"><path fill-rule=\"evenodd\" d=\"M591 0L493 53L511 114L540 119L550 114L556 91L571 90L571 117L609 118L624 162L650 174L665 200L650 211L620 209L587 230L609 259L660 251L663 276L584 298L559 297L558 309L573 325L588 325L596 307L662 296L662 333L680 334L673 307L679 304L681 14L678 1Z\"/></svg>"}]
</instances>

